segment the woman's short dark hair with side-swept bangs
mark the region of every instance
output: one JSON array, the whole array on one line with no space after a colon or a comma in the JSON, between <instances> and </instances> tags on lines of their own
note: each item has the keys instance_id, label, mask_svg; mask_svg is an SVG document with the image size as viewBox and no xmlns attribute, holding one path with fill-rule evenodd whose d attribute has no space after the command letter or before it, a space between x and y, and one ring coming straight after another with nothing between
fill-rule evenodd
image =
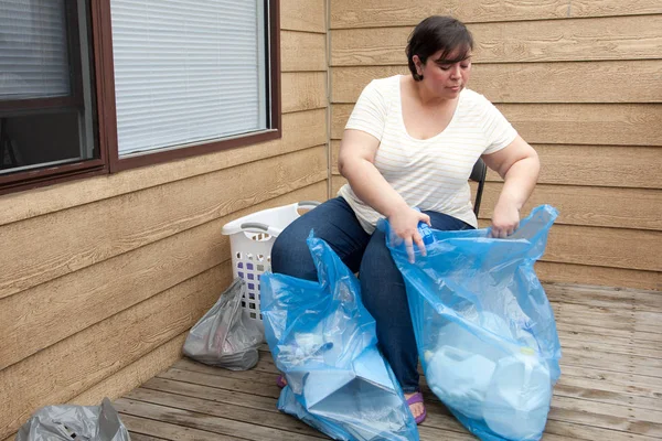
<instances>
[{"instance_id":1,"label":"woman's short dark hair with side-swept bangs","mask_svg":"<svg viewBox=\"0 0 662 441\"><path fill-rule=\"evenodd\" d=\"M418 75L416 72L414 55L418 55L425 64L428 56L437 51L442 51L441 60L446 60L456 50L459 50L460 53L453 60L448 60L449 64L467 60L473 50L473 36L465 23L452 17L442 15L431 15L418 23L409 35L406 50L409 71L412 71L414 79L417 82L423 79L423 75Z\"/></svg>"}]
</instances>

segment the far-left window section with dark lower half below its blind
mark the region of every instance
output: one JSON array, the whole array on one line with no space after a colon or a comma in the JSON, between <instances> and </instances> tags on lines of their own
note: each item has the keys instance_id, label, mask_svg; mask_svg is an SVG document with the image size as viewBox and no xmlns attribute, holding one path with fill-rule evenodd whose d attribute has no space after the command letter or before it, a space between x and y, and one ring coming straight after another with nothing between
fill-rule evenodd
<instances>
[{"instance_id":1,"label":"far-left window section with dark lower half below its blind","mask_svg":"<svg viewBox=\"0 0 662 441\"><path fill-rule=\"evenodd\" d=\"M88 23L84 1L0 3L0 185L103 165Z\"/></svg>"}]
</instances>

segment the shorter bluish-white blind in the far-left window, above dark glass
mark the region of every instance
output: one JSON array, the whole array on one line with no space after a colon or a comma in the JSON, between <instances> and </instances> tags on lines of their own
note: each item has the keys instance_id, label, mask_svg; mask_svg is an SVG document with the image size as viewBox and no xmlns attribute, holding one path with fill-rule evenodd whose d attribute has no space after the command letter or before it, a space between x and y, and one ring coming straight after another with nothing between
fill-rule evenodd
<instances>
[{"instance_id":1,"label":"shorter bluish-white blind in the far-left window, above dark glass","mask_svg":"<svg viewBox=\"0 0 662 441\"><path fill-rule=\"evenodd\" d=\"M70 95L64 1L0 1L0 100Z\"/></svg>"}]
</instances>

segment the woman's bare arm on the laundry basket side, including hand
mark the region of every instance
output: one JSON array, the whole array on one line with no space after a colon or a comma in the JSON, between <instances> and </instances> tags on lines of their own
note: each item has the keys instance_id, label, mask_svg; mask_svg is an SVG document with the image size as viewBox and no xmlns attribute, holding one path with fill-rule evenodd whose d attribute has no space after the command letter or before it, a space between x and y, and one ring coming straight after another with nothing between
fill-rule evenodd
<instances>
[{"instance_id":1,"label":"woman's bare arm on the laundry basket side, including hand","mask_svg":"<svg viewBox=\"0 0 662 441\"><path fill-rule=\"evenodd\" d=\"M382 176L374 165L378 147L380 141L372 135L361 130L345 130L340 142L338 169L361 201L388 218L393 233L404 239L409 260L414 261L413 244L416 244L425 256L425 244L418 234L418 222L423 220L429 225L430 218L410 208Z\"/></svg>"}]
</instances>

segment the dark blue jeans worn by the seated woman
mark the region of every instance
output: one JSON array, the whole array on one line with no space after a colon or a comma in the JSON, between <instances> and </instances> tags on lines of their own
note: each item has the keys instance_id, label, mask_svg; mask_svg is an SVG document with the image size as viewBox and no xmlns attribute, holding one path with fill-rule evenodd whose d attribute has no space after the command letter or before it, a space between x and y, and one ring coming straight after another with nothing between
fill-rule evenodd
<instances>
[{"instance_id":1,"label":"dark blue jeans worn by the seated woman","mask_svg":"<svg viewBox=\"0 0 662 441\"><path fill-rule=\"evenodd\" d=\"M436 229L467 229L455 217L424 212ZM403 391L418 387L418 354L403 276L386 247L384 233L369 235L342 197L335 197L291 223L271 249L271 270L317 281L317 269L306 245L310 230L324 239L353 272L360 272L361 298L376 322L378 346Z\"/></svg>"}]
</instances>

